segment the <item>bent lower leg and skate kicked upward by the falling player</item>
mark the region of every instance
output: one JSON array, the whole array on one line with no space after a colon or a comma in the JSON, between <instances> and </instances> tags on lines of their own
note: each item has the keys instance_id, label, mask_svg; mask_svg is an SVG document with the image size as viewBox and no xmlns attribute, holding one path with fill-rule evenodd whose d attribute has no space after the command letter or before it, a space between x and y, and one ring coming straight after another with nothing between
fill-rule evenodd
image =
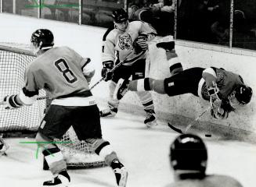
<instances>
[{"instance_id":1,"label":"bent lower leg and skate kicked upward by the falling player","mask_svg":"<svg viewBox=\"0 0 256 187\"><path fill-rule=\"evenodd\" d=\"M175 52L174 41L160 42L157 44L157 48L163 48L165 50L171 76L183 71L182 63Z\"/></svg>"}]
</instances>

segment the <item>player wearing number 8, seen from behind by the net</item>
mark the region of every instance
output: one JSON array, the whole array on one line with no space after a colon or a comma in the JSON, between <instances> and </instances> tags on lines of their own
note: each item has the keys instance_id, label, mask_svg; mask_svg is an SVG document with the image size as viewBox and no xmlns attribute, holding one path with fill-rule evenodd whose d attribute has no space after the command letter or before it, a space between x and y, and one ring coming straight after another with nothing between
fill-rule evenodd
<instances>
[{"instance_id":1,"label":"player wearing number 8, seen from behind by the net","mask_svg":"<svg viewBox=\"0 0 256 187\"><path fill-rule=\"evenodd\" d=\"M6 108L31 105L38 97L38 90L45 90L52 104L45 114L36 136L53 179L43 186L67 186L70 175L63 154L53 139L60 139L73 126L79 140L85 140L114 171L117 185L124 187L128 172L117 158L110 143L103 139L99 108L88 87L95 70L90 58L82 58L68 47L53 48L50 30L36 30L31 36L31 47L38 56L28 65L20 94L6 96ZM46 142L41 144L41 142Z\"/></svg>"}]
</instances>

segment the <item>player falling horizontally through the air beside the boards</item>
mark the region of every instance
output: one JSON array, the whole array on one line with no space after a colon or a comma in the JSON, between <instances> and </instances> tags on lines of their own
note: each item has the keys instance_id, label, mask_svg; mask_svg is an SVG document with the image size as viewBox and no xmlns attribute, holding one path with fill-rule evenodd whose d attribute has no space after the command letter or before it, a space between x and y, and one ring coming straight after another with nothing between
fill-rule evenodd
<instances>
[{"instance_id":1,"label":"player falling horizontally through the air beside the boards","mask_svg":"<svg viewBox=\"0 0 256 187\"><path fill-rule=\"evenodd\" d=\"M170 44L163 42L157 47L168 50ZM251 87L243 83L240 75L215 67L186 69L166 79L120 79L114 97L120 100L128 90L153 90L170 97L190 93L210 101L214 118L228 118L230 111L248 104L252 96Z\"/></svg>"}]
</instances>

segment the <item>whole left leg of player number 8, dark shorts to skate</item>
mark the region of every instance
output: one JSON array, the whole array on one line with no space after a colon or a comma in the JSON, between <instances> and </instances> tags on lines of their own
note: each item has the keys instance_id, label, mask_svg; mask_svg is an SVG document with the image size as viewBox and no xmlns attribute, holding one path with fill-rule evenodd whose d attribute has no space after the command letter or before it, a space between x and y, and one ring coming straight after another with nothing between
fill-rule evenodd
<instances>
[{"instance_id":1,"label":"whole left leg of player number 8, dark shorts to skate","mask_svg":"<svg viewBox=\"0 0 256 187\"><path fill-rule=\"evenodd\" d=\"M62 137L67 129L70 129L70 121L67 120L67 117L73 118L70 115L74 113L70 112L72 109L60 105L51 105L38 129L36 136L38 148L42 150L45 161L53 175L52 180L44 182L43 186L67 186L70 183L70 176L67 174L67 164L63 160L63 154L52 141L53 138Z\"/></svg>"}]
</instances>

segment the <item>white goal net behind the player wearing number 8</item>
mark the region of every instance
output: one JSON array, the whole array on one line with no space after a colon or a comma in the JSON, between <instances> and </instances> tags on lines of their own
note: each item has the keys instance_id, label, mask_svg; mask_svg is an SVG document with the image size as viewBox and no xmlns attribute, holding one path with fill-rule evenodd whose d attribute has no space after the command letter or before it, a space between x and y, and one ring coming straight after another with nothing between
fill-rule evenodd
<instances>
[{"instance_id":1,"label":"white goal net behind the player wearing number 8","mask_svg":"<svg viewBox=\"0 0 256 187\"><path fill-rule=\"evenodd\" d=\"M23 87L24 71L34 58L27 45L0 45L0 101L6 95L20 92ZM40 90L39 97L45 97L44 90ZM49 103L49 100L38 100L32 106L23 106L15 110L5 110L5 106L0 104L0 133L4 137L35 134ZM57 146L62 150L68 168L96 168L105 165L103 159L90 150L85 142L78 140L72 127L62 139L54 141L58 142Z\"/></svg>"}]
</instances>

